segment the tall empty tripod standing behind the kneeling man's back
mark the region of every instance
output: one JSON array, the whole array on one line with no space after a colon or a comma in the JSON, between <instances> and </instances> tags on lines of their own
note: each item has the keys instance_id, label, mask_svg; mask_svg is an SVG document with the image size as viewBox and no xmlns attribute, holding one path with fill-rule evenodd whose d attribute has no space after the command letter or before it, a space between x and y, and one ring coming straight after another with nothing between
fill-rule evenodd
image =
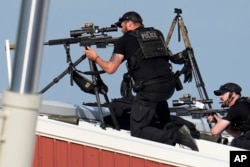
<instances>
[{"instance_id":1,"label":"tall empty tripod standing behind the kneeling man's back","mask_svg":"<svg viewBox=\"0 0 250 167\"><path fill-rule=\"evenodd\" d=\"M174 12L177 15L175 16L175 18L174 18L174 20L173 20L173 22L172 22L172 24L170 26L170 30L168 32L166 42L165 42L165 47L167 48L167 46L169 44L169 41L171 39L171 36L173 34L175 25L178 23L177 24L178 25L178 41L180 42L181 35L182 35L183 41L185 43L186 51L187 51L187 54L188 54L188 58L189 58L189 61L191 63L192 73L193 73L193 76L194 76L194 79L195 79L195 82L196 82L196 87L198 89L200 98L201 98L201 100L209 100L207 91L205 89L205 84L204 84L204 82L202 80L202 77L201 77L197 62L196 62L195 57L194 57L194 51L193 51L193 48L191 46L191 43L190 43L190 40L189 40L189 37L188 37L187 28L186 28L186 26L184 24L184 21L183 21L181 15L180 15L182 13L182 10L175 8ZM180 31L181 31L181 35L180 35ZM208 107L211 109L212 105L210 103L208 103Z\"/></svg>"}]
</instances>

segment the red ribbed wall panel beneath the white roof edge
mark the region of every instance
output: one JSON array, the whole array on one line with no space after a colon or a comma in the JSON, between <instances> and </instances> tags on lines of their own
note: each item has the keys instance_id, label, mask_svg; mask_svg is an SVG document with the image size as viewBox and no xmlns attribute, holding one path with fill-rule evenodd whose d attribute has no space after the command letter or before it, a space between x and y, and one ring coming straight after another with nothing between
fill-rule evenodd
<instances>
[{"instance_id":1,"label":"red ribbed wall panel beneath the white roof edge","mask_svg":"<svg viewBox=\"0 0 250 167\"><path fill-rule=\"evenodd\" d=\"M36 137L33 167L173 167L49 137Z\"/></svg>"}]
</instances>

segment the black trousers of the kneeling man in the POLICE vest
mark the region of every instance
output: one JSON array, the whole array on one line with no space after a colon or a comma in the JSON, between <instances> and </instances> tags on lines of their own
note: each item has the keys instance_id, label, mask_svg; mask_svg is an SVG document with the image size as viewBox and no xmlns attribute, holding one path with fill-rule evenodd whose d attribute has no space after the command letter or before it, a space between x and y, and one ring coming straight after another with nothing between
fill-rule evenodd
<instances>
[{"instance_id":1,"label":"black trousers of the kneeling man in the POLICE vest","mask_svg":"<svg viewBox=\"0 0 250 167\"><path fill-rule=\"evenodd\" d=\"M164 129L170 121L167 101L174 93L175 80L149 85L137 93L131 109L131 135L174 145L173 130ZM156 121L161 126L156 126ZM158 124L159 125L159 124Z\"/></svg>"}]
</instances>

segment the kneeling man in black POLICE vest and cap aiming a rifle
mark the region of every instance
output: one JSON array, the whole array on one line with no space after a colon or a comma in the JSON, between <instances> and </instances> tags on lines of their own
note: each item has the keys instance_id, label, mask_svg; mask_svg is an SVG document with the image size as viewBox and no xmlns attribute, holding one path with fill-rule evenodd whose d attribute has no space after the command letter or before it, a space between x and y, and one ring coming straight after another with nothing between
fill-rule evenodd
<instances>
[{"instance_id":1,"label":"kneeling man in black POLICE vest and cap aiming a rifle","mask_svg":"<svg viewBox=\"0 0 250 167\"><path fill-rule=\"evenodd\" d=\"M116 23L124 35L116 41L110 60L101 59L89 47L85 50L86 56L108 74L114 73L122 62L127 61L128 73L136 92L130 117L132 136L170 145L180 143L198 151L185 126L176 132L152 125L155 116L162 124L170 121L167 100L175 91L176 77L164 47L163 34L152 27L144 27L142 22L138 13L125 13ZM159 106L161 112L156 113Z\"/></svg>"}]
</instances>

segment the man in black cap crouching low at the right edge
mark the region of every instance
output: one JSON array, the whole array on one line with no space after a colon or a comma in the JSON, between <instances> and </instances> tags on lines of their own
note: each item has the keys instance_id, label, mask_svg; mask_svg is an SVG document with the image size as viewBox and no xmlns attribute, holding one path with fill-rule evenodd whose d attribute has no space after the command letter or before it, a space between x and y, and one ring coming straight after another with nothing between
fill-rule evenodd
<instances>
[{"instance_id":1,"label":"man in black cap crouching low at the right edge","mask_svg":"<svg viewBox=\"0 0 250 167\"><path fill-rule=\"evenodd\" d=\"M241 97L241 87L236 83L225 83L214 91L221 100L221 106L227 107L227 114L220 117L217 114L208 116L208 122L215 122L211 128L212 135L220 135L224 130L234 139L232 146L250 150L250 100Z\"/></svg>"}]
</instances>

